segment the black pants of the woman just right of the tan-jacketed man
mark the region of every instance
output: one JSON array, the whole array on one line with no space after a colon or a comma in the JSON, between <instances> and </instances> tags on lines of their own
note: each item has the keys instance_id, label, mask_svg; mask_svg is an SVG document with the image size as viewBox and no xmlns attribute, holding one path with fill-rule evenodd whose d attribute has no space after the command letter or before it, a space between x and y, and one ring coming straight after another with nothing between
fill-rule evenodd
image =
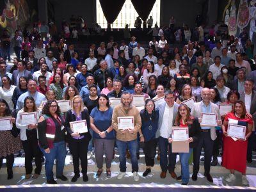
<instances>
[{"instance_id":1,"label":"black pants of the woman just right of the tan-jacketed man","mask_svg":"<svg viewBox=\"0 0 256 192\"><path fill-rule=\"evenodd\" d=\"M146 166L154 166L155 164L154 159L156 156L156 146L157 146L156 139L144 142L143 152L145 154Z\"/></svg>"}]
</instances>

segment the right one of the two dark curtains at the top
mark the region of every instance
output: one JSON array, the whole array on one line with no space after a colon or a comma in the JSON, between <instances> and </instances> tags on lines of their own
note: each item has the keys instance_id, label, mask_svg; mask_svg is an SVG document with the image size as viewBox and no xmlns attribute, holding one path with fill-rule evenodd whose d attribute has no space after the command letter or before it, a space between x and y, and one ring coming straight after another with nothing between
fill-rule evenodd
<instances>
[{"instance_id":1,"label":"right one of the two dark curtains at the top","mask_svg":"<svg viewBox=\"0 0 256 192\"><path fill-rule=\"evenodd\" d=\"M141 19L143 20L143 28L145 28L146 21L148 19L148 15L151 12L156 0L131 0L132 4L139 14Z\"/></svg>"}]
</instances>

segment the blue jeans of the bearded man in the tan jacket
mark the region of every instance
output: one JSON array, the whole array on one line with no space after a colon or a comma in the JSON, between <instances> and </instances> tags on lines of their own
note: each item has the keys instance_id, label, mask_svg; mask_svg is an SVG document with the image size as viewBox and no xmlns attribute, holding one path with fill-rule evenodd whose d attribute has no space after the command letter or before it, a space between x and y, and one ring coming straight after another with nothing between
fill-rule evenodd
<instances>
[{"instance_id":1,"label":"blue jeans of the bearded man in the tan jacket","mask_svg":"<svg viewBox=\"0 0 256 192\"><path fill-rule=\"evenodd\" d=\"M116 140L116 145L119 152L119 161L120 161L120 172L126 172L126 148L129 148L130 154L131 154L131 163L132 163L132 173L138 172L139 165L138 165L138 159L137 159L137 148L138 148L138 141L132 140L132 141L120 141Z\"/></svg>"}]
</instances>

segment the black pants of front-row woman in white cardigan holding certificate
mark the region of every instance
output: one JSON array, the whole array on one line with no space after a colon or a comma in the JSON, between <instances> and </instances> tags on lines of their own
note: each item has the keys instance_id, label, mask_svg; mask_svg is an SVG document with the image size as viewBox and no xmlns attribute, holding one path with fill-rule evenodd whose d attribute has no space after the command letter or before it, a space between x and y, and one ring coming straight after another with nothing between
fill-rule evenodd
<instances>
[{"instance_id":1,"label":"black pants of front-row woman in white cardigan holding certificate","mask_svg":"<svg viewBox=\"0 0 256 192\"><path fill-rule=\"evenodd\" d=\"M40 175L42 170L42 153L38 147L38 140L22 141L22 146L25 152L25 170L26 174L31 174L33 171L32 160L35 157L35 173Z\"/></svg>"}]
</instances>

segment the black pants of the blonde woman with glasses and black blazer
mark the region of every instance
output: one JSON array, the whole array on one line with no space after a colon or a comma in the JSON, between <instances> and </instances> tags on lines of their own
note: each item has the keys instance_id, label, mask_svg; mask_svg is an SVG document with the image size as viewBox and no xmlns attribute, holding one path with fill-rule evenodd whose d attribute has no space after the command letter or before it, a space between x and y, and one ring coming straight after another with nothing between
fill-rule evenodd
<instances>
[{"instance_id":1,"label":"black pants of the blonde woman with glasses and black blazer","mask_svg":"<svg viewBox=\"0 0 256 192\"><path fill-rule=\"evenodd\" d=\"M88 151L88 138L83 138L81 140L76 140L70 138L69 142L70 153L73 156L73 166L75 175L79 175L79 160L81 161L82 173L83 175L87 174L87 151Z\"/></svg>"}]
</instances>

